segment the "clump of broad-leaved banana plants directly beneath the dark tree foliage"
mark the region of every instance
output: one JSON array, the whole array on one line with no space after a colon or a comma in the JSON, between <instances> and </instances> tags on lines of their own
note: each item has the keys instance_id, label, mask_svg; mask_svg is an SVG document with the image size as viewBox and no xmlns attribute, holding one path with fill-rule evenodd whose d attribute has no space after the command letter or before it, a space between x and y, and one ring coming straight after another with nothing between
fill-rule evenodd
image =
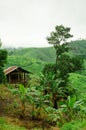
<instances>
[{"instance_id":1,"label":"clump of broad-leaved banana plants directly beneath the dark tree foliage","mask_svg":"<svg viewBox=\"0 0 86 130\"><path fill-rule=\"evenodd\" d=\"M41 78L41 85L43 86L44 95L49 94L49 101L52 102L52 106L57 109L57 101L64 97L64 88L59 87L62 80L56 79L53 73L48 73L48 75L43 75Z\"/></svg>"}]
</instances>

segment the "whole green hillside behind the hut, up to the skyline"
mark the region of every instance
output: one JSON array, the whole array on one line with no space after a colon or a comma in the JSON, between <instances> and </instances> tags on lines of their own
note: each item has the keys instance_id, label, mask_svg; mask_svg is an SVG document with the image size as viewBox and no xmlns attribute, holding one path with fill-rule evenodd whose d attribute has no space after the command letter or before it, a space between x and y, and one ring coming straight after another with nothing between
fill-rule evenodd
<instances>
[{"instance_id":1,"label":"whole green hillside behind the hut, up to the skyline","mask_svg":"<svg viewBox=\"0 0 86 130\"><path fill-rule=\"evenodd\" d=\"M21 66L33 73L40 74L45 63L55 61L54 48L19 48L8 49L9 66Z\"/></svg>"}]
</instances>

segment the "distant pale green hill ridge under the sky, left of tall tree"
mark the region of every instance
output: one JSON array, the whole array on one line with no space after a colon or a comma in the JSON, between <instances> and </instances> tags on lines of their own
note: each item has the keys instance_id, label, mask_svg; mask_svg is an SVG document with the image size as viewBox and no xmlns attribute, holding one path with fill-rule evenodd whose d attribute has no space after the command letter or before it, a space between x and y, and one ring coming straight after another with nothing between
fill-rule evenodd
<instances>
[{"instance_id":1,"label":"distant pale green hill ridge under the sky, left of tall tree","mask_svg":"<svg viewBox=\"0 0 86 130\"><path fill-rule=\"evenodd\" d=\"M31 59L37 59L44 62L55 61L55 50L52 47L47 48L20 48L9 51L10 56L24 56Z\"/></svg>"}]
</instances>

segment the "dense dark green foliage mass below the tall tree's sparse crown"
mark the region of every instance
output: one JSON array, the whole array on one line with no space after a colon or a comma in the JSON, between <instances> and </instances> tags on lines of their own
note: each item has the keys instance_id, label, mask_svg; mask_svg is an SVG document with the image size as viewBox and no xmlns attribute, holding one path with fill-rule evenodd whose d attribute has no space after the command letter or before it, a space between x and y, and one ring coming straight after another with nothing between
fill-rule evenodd
<instances>
[{"instance_id":1,"label":"dense dark green foliage mass below the tall tree's sparse crown","mask_svg":"<svg viewBox=\"0 0 86 130\"><path fill-rule=\"evenodd\" d=\"M82 67L81 61L76 60L76 62L73 62L75 59L76 58L72 58L69 55L62 54L60 58L58 58L57 65L45 65L43 70L43 87L45 94L52 93L54 108L57 108L56 104L62 97L65 99L68 95L72 95L73 92L75 92L74 88L67 88L69 73L79 69L76 67L76 62L78 61L78 66L80 68Z\"/></svg>"}]
</instances>

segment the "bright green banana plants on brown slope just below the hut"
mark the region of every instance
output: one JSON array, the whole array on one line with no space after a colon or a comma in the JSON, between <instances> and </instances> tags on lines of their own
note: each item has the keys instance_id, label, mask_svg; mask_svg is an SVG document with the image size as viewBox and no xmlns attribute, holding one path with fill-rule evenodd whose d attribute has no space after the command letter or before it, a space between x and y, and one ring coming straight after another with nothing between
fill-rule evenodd
<instances>
[{"instance_id":1,"label":"bright green banana plants on brown slope just below the hut","mask_svg":"<svg viewBox=\"0 0 86 130\"><path fill-rule=\"evenodd\" d=\"M41 109L45 109L45 102L49 102L48 95L42 95L42 88L40 87L37 89L36 87L29 87L25 88L22 84L18 85L18 88L11 89L12 93L17 95L18 98L20 99L20 117L24 118L25 116L25 109L26 109L26 104L31 104L32 105L32 112L31 116L32 119L35 118L35 115L37 115L37 112L35 111L35 108L39 110L39 116L41 113Z\"/></svg>"}]
</instances>

